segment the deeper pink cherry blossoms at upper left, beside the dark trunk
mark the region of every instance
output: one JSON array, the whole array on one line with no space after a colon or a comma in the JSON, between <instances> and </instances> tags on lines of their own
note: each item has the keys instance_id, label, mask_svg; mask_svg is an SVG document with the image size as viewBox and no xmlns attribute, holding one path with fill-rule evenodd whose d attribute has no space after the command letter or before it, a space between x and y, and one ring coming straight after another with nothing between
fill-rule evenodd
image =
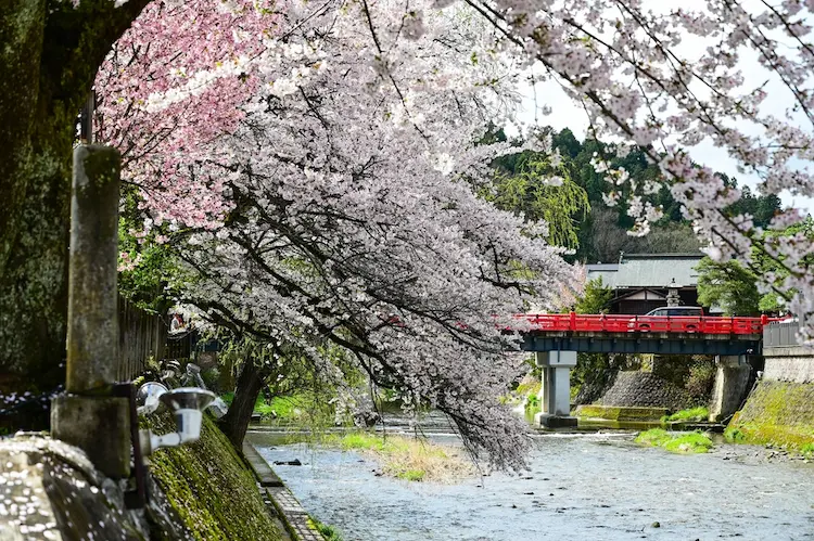
<instances>
[{"instance_id":1,"label":"deeper pink cherry blossoms at upper left, beside the dark trunk","mask_svg":"<svg viewBox=\"0 0 814 541\"><path fill-rule=\"evenodd\" d=\"M96 78L94 136L122 153L151 220L215 227L222 180L185 170L214 163L259 85L258 57L277 31L274 2L153 2L113 46ZM148 224L149 226L149 224Z\"/></svg>"}]
</instances>

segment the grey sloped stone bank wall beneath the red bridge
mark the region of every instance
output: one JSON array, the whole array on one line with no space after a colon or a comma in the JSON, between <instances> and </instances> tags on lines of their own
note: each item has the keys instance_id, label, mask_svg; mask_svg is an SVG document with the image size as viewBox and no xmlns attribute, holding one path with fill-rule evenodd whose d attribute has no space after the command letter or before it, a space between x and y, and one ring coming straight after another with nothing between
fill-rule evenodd
<instances>
[{"instance_id":1,"label":"grey sloped stone bank wall beneath the red bridge","mask_svg":"<svg viewBox=\"0 0 814 541\"><path fill-rule=\"evenodd\" d=\"M672 411L689 408L692 398L675 384L649 372L620 372L602 396L602 405L666 408Z\"/></svg>"}]
</instances>

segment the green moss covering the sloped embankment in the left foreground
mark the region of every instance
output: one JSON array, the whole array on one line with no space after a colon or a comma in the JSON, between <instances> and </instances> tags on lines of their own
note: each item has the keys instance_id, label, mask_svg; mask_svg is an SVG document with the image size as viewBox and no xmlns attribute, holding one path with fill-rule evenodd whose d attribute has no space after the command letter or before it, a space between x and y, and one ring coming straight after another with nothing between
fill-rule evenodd
<instances>
[{"instance_id":1,"label":"green moss covering the sloped embankment in the left foreground","mask_svg":"<svg viewBox=\"0 0 814 541\"><path fill-rule=\"evenodd\" d=\"M141 424L157 434L175 428L167 414ZM195 539L281 539L253 474L207 416L199 441L160 449L150 461L153 476Z\"/></svg>"}]
</instances>

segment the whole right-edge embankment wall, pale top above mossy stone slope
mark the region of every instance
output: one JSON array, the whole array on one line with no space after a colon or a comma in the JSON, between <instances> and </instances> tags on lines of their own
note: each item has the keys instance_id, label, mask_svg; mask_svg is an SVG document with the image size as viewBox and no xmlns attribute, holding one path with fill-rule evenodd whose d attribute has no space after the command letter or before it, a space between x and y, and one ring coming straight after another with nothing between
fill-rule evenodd
<instances>
[{"instance_id":1,"label":"whole right-edge embankment wall, pale top above mossy stone slope","mask_svg":"<svg viewBox=\"0 0 814 541\"><path fill-rule=\"evenodd\" d=\"M814 446L814 351L765 348L763 378L726 434L736 441L802 449Z\"/></svg>"}]
</instances>

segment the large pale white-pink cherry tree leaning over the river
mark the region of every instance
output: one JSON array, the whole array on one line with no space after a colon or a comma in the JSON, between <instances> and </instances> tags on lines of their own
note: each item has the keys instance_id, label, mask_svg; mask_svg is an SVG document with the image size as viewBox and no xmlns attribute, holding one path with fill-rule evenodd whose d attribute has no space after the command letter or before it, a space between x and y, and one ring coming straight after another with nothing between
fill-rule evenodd
<instances>
[{"instance_id":1,"label":"large pale white-pink cherry tree leaning over the river","mask_svg":"<svg viewBox=\"0 0 814 541\"><path fill-rule=\"evenodd\" d=\"M495 465L518 467L523 422L498 399L522 363L505 330L530 301L561 305L577 272L546 244L544 223L497 210L472 186L494 156L517 151L476 144L487 120L510 114L513 62L489 50L471 10L421 18L402 7L278 4L238 128L192 153L170 149L178 180L144 176L135 160L128 182L148 192L148 223L183 243L195 273L185 300L262 338L267 365L296 350L364 405L342 385L341 356L408 409L447 413ZM148 124L163 114L143 108ZM117 111L102 124L118 124ZM222 186L211 221L165 210L190 183ZM251 404L260 376L246 373Z\"/></svg>"}]
</instances>

